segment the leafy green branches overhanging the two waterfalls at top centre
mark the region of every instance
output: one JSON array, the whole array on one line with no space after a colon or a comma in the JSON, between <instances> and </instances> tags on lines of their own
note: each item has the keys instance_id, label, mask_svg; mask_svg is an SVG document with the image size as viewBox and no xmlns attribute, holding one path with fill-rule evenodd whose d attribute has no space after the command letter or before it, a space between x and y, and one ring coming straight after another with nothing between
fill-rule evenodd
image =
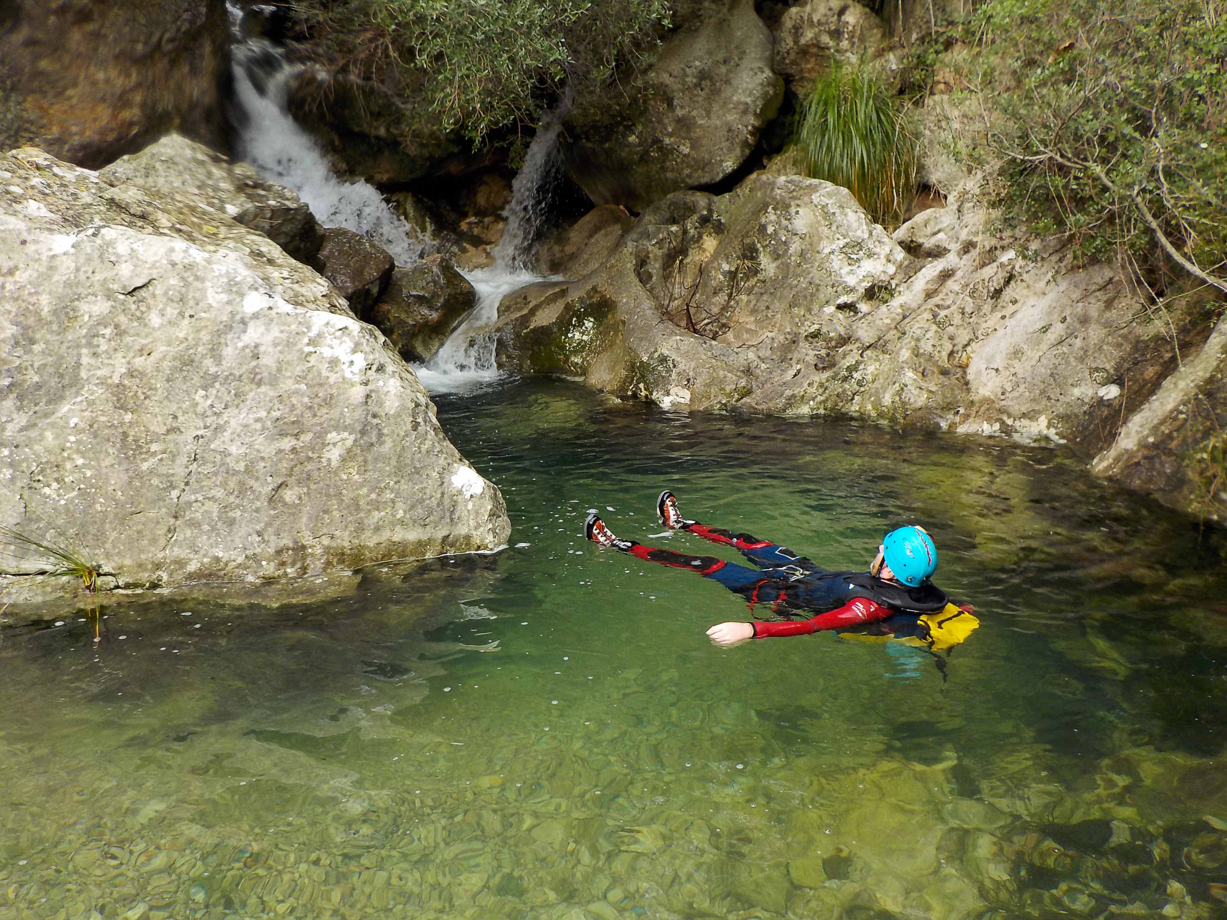
<instances>
[{"instance_id":1,"label":"leafy green branches overhanging the two waterfalls at top centre","mask_svg":"<svg viewBox=\"0 0 1227 920\"><path fill-rule=\"evenodd\" d=\"M415 97L479 141L535 120L564 81L600 85L669 23L669 0L299 0L325 64Z\"/></svg>"}]
</instances>

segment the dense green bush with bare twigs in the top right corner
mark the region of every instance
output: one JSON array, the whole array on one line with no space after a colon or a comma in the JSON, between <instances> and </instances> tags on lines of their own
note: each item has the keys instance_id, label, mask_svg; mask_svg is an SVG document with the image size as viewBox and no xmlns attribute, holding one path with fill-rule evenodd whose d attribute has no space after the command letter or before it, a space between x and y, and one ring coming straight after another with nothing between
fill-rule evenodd
<instances>
[{"instance_id":1,"label":"dense green bush with bare twigs in the top right corner","mask_svg":"<svg viewBox=\"0 0 1227 920\"><path fill-rule=\"evenodd\" d=\"M1173 276L1218 293L1223 0L989 0L963 29L1009 212L1086 258L1123 258L1156 293Z\"/></svg>"}]
</instances>

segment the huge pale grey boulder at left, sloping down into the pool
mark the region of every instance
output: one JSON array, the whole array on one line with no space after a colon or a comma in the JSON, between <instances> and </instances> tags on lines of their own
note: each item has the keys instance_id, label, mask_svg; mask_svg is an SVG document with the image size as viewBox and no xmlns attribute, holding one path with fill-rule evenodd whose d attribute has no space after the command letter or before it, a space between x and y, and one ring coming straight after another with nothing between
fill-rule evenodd
<instances>
[{"instance_id":1,"label":"huge pale grey boulder at left, sloping down into the pool","mask_svg":"<svg viewBox=\"0 0 1227 920\"><path fill-rule=\"evenodd\" d=\"M0 179L0 524L52 525L134 586L506 539L498 489L314 271L40 151Z\"/></svg>"}]
</instances>

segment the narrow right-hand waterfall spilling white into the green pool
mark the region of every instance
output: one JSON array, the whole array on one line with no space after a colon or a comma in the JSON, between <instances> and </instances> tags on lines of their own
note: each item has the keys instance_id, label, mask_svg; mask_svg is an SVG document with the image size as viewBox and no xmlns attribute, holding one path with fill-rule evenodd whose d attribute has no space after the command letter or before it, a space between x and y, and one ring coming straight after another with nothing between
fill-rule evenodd
<instances>
[{"instance_id":1,"label":"narrow right-hand waterfall spilling white into the green pool","mask_svg":"<svg viewBox=\"0 0 1227 920\"><path fill-rule=\"evenodd\" d=\"M467 274L477 305L453 330L417 377L431 393L471 389L498 378L494 334L498 303L517 288L542 281L533 272L533 249L546 217L547 190L560 174L558 131L571 108L571 91L541 119L524 168L512 182L512 201L503 212L507 227L494 247L494 265Z\"/></svg>"}]
</instances>

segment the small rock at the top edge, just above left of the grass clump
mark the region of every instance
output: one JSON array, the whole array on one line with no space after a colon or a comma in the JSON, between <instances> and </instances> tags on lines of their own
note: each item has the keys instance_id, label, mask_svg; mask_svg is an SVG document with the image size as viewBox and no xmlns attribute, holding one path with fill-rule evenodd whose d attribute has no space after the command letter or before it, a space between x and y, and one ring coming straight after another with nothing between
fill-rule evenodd
<instances>
[{"instance_id":1,"label":"small rock at the top edge, just above left of the grass clump","mask_svg":"<svg viewBox=\"0 0 1227 920\"><path fill-rule=\"evenodd\" d=\"M789 6L772 29L775 72L804 96L832 63L855 64L885 40L882 21L849 0L809 0Z\"/></svg>"}]
</instances>

